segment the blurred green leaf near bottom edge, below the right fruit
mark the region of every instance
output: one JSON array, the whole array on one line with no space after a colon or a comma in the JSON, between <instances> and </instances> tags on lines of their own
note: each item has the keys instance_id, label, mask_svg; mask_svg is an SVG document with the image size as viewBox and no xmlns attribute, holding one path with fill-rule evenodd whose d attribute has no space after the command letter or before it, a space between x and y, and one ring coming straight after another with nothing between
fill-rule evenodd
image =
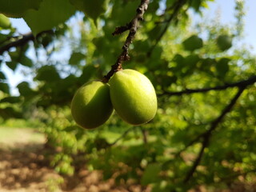
<instances>
[{"instance_id":1,"label":"blurred green leaf near bottom edge, below the right fruit","mask_svg":"<svg viewBox=\"0 0 256 192\"><path fill-rule=\"evenodd\" d=\"M159 182L161 178L159 178L159 173L161 171L161 166L158 163L153 163L146 166L146 170L142 175L142 185L146 186L150 183Z\"/></svg>"}]
</instances>

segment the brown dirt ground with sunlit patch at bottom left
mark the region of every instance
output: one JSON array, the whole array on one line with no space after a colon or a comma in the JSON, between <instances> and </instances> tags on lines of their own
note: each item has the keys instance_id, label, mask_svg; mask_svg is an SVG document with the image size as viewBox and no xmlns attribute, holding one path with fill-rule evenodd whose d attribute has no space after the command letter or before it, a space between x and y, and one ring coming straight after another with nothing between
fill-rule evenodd
<instances>
[{"instance_id":1,"label":"brown dirt ground with sunlit patch at bottom left","mask_svg":"<svg viewBox=\"0 0 256 192\"><path fill-rule=\"evenodd\" d=\"M98 171L81 170L72 178L63 178L43 156L44 138L36 135L31 140L31 131L11 130L10 139L8 135L0 139L0 192L150 191L132 182L116 186L113 179L102 181Z\"/></svg>"}]
</instances>

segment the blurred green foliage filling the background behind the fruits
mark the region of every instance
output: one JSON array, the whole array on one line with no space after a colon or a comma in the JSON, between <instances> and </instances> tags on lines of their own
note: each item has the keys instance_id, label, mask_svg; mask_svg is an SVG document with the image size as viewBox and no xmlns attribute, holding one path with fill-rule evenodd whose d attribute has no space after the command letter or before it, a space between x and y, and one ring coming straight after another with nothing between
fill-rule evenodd
<instances>
[{"instance_id":1,"label":"blurred green foliage filling the background behind the fruits","mask_svg":"<svg viewBox=\"0 0 256 192\"><path fill-rule=\"evenodd\" d=\"M48 11L49 1L43 0L45 6L37 10L39 2L33 6L24 4L15 15L8 7L6 12L2 8L0 12L23 17L22 11L26 10L40 17L40 11ZM59 1L55 2L50 12L58 6ZM46 147L54 151L46 157L62 174L72 175L86 167L102 170L105 179L114 177L117 183L123 183L133 178L158 192L186 191L199 185L225 188L241 177L244 182L252 179L251 173L256 170L255 84L246 88L234 109L218 124L198 169L186 185L183 181L202 143L198 140L188 145L209 129L237 88L179 96L166 94L224 86L255 75L255 56L247 46L236 46L242 38L242 1L237 1L235 7L238 23L230 27L222 26L218 19L202 20L191 26L189 11L202 14L210 2L207 0L151 1L130 47L131 59L124 68L138 70L150 78L159 95L158 114L144 126L130 126L113 114L96 130L82 130L75 125L70 101L83 83L102 78L110 70L126 38L126 33L115 37L111 33L116 26L130 22L139 1L102 1L108 3L107 9L102 6L95 14L86 13L82 1L70 2L85 14L74 14L69 22L58 25L73 14L73 7L55 22L47 18L50 26L45 26L46 22L34 22L34 17L30 17L31 22L26 22L34 34L54 28L38 34L34 43L14 47L0 55L1 69L4 65L10 70L22 67L26 75L34 78L33 83L20 82L19 95L14 96L10 94L6 72L0 72L2 122L8 118L40 122L38 127L46 134ZM174 7L181 2L175 15ZM90 6L95 9L96 4ZM65 7L69 6L62 8ZM1 48L16 41L18 34L8 18L0 16L0 22L4 21L0 24ZM47 17L55 18L51 14ZM31 51L36 58L31 57Z\"/></svg>"}]
</instances>

